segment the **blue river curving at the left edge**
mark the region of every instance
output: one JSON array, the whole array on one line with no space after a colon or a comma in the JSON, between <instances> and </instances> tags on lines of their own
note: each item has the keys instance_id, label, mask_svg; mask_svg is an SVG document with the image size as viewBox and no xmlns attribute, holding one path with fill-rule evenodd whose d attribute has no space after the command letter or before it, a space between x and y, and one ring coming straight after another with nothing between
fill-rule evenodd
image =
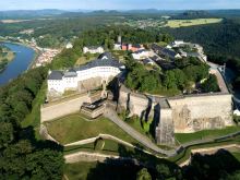
<instances>
[{"instance_id":1,"label":"blue river curving at the left edge","mask_svg":"<svg viewBox=\"0 0 240 180\"><path fill-rule=\"evenodd\" d=\"M0 86L17 77L31 65L35 57L35 51L26 46L11 43L1 43L15 52L14 59L9 62L4 71L0 73Z\"/></svg>"}]
</instances>

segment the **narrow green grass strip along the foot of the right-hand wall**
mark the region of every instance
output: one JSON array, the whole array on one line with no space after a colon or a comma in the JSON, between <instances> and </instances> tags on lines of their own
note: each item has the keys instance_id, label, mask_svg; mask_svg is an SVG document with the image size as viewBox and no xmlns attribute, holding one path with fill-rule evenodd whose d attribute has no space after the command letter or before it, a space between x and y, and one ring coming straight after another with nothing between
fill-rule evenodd
<instances>
[{"instance_id":1,"label":"narrow green grass strip along the foot of the right-hand wall","mask_svg":"<svg viewBox=\"0 0 240 180\"><path fill-rule=\"evenodd\" d=\"M195 133L177 133L176 139L182 144L195 140L207 140L240 131L240 127L228 127L223 130L204 130Z\"/></svg>"}]
</instances>

